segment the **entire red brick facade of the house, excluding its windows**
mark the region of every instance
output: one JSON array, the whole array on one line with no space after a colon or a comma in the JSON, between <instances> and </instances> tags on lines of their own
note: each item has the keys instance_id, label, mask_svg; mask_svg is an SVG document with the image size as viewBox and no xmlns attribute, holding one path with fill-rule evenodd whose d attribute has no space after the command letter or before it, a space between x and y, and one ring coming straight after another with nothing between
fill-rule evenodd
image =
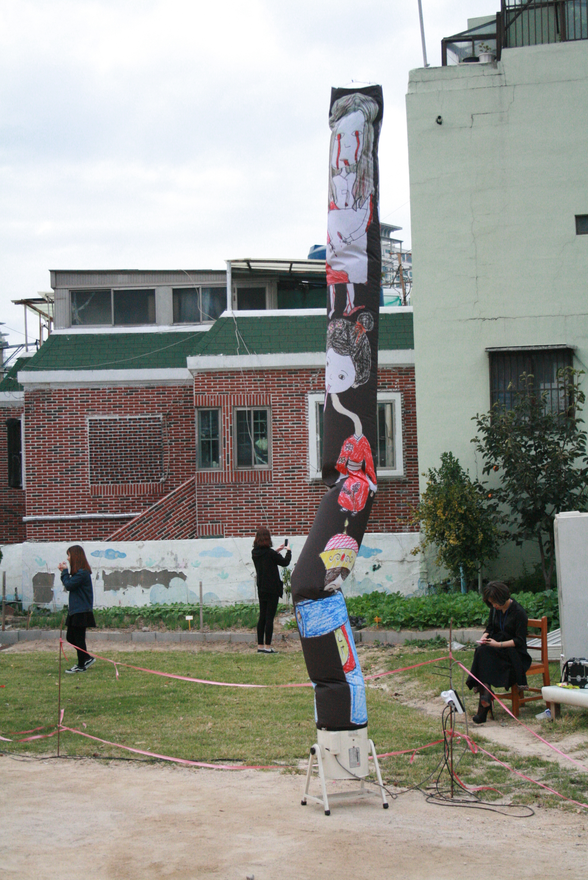
<instances>
[{"instance_id":1,"label":"entire red brick facade of the house, excluding its windows","mask_svg":"<svg viewBox=\"0 0 588 880\"><path fill-rule=\"evenodd\" d=\"M324 390L323 370L210 372L187 386L26 392L26 513L121 513L158 506L130 524L107 519L28 523L32 540L180 539L249 535L268 523L277 535L303 535L325 491L308 480L308 392ZM402 394L403 478L379 479L368 532L409 531L418 501L415 370L379 371L379 390ZM234 470L233 407L271 407L272 467ZM195 407L222 410L222 468L196 472ZM165 483L90 486L89 415L165 416ZM115 454L115 451L114 451ZM136 454L127 451L126 454ZM138 461L137 461L138 469ZM195 473L196 472L196 473ZM195 483L190 480L195 475ZM165 497L182 484L178 495ZM130 538L133 535L133 538Z\"/></svg>"}]
</instances>

